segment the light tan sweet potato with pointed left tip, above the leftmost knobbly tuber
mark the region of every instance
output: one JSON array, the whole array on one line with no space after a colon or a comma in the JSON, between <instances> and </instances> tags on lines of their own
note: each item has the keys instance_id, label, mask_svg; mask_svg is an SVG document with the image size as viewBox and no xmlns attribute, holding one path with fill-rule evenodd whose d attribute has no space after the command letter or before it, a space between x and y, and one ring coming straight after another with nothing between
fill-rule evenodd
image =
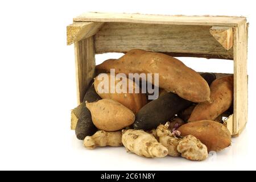
<instances>
[{"instance_id":1,"label":"light tan sweet potato with pointed left tip, above the leftmost knobbly tuber","mask_svg":"<svg viewBox=\"0 0 256 182\"><path fill-rule=\"evenodd\" d=\"M97 102L86 102L86 107L92 114L93 124L100 130L117 131L133 124L133 111L111 99Z\"/></svg>"}]
</instances>

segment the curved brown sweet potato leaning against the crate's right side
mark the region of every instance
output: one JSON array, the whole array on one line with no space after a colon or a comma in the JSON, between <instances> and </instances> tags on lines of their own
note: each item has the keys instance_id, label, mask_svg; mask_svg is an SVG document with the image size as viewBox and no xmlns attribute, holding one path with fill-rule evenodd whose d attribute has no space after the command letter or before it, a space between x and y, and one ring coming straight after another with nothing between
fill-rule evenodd
<instances>
[{"instance_id":1,"label":"curved brown sweet potato leaning against the crate's right side","mask_svg":"<svg viewBox=\"0 0 256 182\"><path fill-rule=\"evenodd\" d=\"M188 122L214 120L232 105L233 76L214 80L210 85L210 102L202 102L193 109Z\"/></svg>"}]
</instances>

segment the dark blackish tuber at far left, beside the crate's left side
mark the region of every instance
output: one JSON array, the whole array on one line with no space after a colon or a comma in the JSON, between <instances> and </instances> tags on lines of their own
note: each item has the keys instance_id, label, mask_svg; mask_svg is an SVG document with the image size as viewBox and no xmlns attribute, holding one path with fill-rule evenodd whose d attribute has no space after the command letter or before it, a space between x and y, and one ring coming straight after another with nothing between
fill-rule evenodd
<instances>
[{"instance_id":1,"label":"dark blackish tuber at far left, beside the crate's left side","mask_svg":"<svg viewBox=\"0 0 256 182\"><path fill-rule=\"evenodd\" d=\"M92 115L85 106L85 101L95 102L97 100L101 100L101 97L98 96L94 90L94 86L91 85L85 93L84 101L82 102L78 113L78 121L75 129L77 139L84 140L86 136L93 135L97 131L96 126L94 126L92 122Z\"/></svg>"}]
</instances>

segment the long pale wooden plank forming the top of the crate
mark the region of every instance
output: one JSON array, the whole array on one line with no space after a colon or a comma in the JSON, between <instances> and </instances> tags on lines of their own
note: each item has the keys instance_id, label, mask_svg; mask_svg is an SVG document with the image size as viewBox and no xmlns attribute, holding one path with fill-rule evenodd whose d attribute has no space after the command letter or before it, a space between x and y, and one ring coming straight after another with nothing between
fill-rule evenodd
<instances>
[{"instance_id":1,"label":"long pale wooden plank forming the top of the crate","mask_svg":"<svg viewBox=\"0 0 256 182\"><path fill-rule=\"evenodd\" d=\"M149 24L183 24L202 26L238 26L246 18L237 16L184 16L184 15L145 15L117 13L84 13L73 19L76 22L127 22Z\"/></svg>"}]
</instances>

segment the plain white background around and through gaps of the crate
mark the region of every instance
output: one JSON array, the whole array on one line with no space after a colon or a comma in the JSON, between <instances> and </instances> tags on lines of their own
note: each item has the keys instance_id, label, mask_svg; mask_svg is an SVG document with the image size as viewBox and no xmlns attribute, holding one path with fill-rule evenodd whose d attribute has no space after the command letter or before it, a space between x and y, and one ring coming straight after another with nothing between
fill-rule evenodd
<instances>
[{"instance_id":1,"label":"plain white background around and through gaps of the crate","mask_svg":"<svg viewBox=\"0 0 256 182\"><path fill-rule=\"evenodd\" d=\"M0 169L256 169L254 1L1 1ZM76 106L66 26L86 11L247 16L249 120L232 147L204 162L145 159L125 148L86 150L69 130ZM98 55L97 63L119 55ZM233 72L233 61L181 57L196 71Z\"/></svg>"}]
</instances>

